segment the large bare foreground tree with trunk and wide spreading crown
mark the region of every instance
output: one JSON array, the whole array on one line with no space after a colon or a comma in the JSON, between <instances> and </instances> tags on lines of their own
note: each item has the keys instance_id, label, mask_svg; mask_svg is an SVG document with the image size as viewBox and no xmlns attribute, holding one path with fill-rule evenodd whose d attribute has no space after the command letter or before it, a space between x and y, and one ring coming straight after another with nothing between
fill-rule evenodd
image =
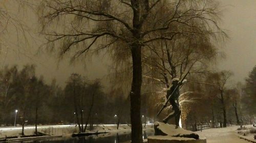
<instances>
[{"instance_id":1,"label":"large bare foreground tree with trunk and wide spreading crown","mask_svg":"<svg viewBox=\"0 0 256 143\"><path fill-rule=\"evenodd\" d=\"M38 12L42 34L47 35L52 46L61 41L61 55L74 52L73 59L76 59L83 53L105 48L114 51L130 49L128 53L131 56L125 58L129 58L126 60L132 61L133 66L130 92L132 142L142 142L142 124L138 118L141 117L142 47L159 40L173 40L177 35L194 33L189 27L195 26L191 21L198 18L200 22L207 23L206 28L214 27L210 32L215 33L219 27L212 19L217 18L217 7L211 1L56 0L41 2ZM63 26L54 26L56 22ZM173 23L186 26L176 31Z\"/></svg>"}]
</instances>

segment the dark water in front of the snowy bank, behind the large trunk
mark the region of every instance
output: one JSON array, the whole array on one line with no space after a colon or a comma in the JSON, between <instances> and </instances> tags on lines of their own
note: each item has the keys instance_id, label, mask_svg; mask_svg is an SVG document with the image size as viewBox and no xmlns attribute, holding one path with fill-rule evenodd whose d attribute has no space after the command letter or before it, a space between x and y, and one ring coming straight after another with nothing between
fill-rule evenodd
<instances>
[{"instance_id":1,"label":"dark water in front of the snowy bank, behind the large trunk","mask_svg":"<svg viewBox=\"0 0 256 143\"><path fill-rule=\"evenodd\" d=\"M154 135L154 130L143 131L143 138L146 139L147 136ZM91 135L86 137L62 137L62 138L51 138L33 141L19 141L21 142L33 142L33 143L117 143L125 142L131 140L131 132L119 132L119 133L105 133L99 135Z\"/></svg>"}]
</instances>

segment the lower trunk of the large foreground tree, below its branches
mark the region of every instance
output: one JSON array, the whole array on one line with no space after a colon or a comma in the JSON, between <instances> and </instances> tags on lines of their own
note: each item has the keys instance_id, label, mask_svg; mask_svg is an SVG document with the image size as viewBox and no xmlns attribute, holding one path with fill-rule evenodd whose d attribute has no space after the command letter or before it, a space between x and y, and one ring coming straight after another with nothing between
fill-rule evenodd
<instances>
[{"instance_id":1,"label":"lower trunk of the large foreground tree, below its branches","mask_svg":"<svg viewBox=\"0 0 256 143\"><path fill-rule=\"evenodd\" d=\"M135 43L132 46L133 58L133 81L132 90L130 93L131 100L131 124L132 124L132 143L142 143L142 124L140 115L141 104L141 82L142 82L142 67L141 67L141 46Z\"/></svg>"}]
</instances>

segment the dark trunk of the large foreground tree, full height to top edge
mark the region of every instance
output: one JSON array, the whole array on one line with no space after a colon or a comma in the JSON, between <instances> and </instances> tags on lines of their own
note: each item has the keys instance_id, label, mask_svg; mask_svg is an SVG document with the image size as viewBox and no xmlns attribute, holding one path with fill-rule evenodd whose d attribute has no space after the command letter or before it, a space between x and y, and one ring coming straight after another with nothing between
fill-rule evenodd
<instances>
[{"instance_id":1,"label":"dark trunk of the large foreground tree, full height to top edge","mask_svg":"<svg viewBox=\"0 0 256 143\"><path fill-rule=\"evenodd\" d=\"M141 82L142 82L142 65L141 65L141 27L143 18L143 8L148 8L148 1L131 0L133 9L133 37L134 42L130 47L133 59L133 81L130 92L131 100L131 125L132 125L132 143L142 143L142 124L140 115L141 106Z\"/></svg>"}]
</instances>

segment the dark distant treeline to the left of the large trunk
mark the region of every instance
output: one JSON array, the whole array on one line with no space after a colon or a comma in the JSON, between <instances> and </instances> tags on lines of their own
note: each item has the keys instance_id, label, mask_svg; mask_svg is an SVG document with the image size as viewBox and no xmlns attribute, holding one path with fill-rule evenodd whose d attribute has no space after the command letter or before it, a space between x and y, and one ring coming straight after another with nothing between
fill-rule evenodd
<instances>
[{"instance_id":1,"label":"dark distant treeline to the left of the large trunk","mask_svg":"<svg viewBox=\"0 0 256 143\"><path fill-rule=\"evenodd\" d=\"M129 100L119 93L106 94L99 79L71 74L64 89L55 80L46 84L35 76L35 66L0 71L0 125L130 123ZM82 117L81 117L82 115ZM116 115L116 116L115 116ZM120 120L118 120L120 118ZM79 120L78 120L79 119Z\"/></svg>"}]
</instances>

